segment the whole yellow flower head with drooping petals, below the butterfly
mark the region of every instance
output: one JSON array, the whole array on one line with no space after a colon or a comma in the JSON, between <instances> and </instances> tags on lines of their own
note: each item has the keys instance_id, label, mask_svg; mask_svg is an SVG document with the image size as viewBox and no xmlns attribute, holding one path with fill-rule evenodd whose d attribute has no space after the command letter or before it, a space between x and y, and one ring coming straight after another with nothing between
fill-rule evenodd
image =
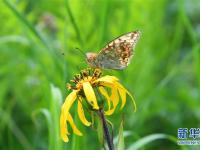
<instances>
[{"instance_id":1,"label":"whole yellow flower head with drooping petals, below the butterfly","mask_svg":"<svg viewBox=\"0 0 200 150\"><path fill-rule=\"evenodd\" d=\"M105 115L112 115L117 108L121 98L122 109L126 103L126 95L128 94L133 102L134 110L136 111L136 104L132 95L119 83L118 78L115 76L103 76L101 77L101 71L99 69L86 69L81 71L80 74L75 75L74 79L71 80L73 84L68 84L68 88L72 92L65 99L62 105L61 115L60 115L60 132L61 137L65 142L68 142L68 123L72 127L73 132L76 135L82 136L81 131L76 127L73 118L70 113L70 108L77 100L78 116L80 121L86 125L90 126L91 122L85 117L84 103L89 106L92 111L97 111L101 107L100 99L105 100L108 106L108 110L105 111ZM109 93L110 91L110 93ZM96 93L96 94L95 94ZM98 93L98 94L97 94ZM101 96L99 101L97 101L97 96ZM84 107L83 107L84 106Z\"/></svg>"}]
</instances>

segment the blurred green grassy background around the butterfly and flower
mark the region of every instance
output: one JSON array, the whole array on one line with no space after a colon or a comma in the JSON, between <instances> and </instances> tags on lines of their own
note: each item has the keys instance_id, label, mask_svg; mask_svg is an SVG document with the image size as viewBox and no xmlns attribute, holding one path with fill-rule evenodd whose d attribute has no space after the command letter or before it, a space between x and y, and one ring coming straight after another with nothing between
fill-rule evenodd
<instances>
[{"instance_id":1,"label":"blurred green grassy background around the butterfly and flower","mask_svg":"<svg viewBox=\"0 0 200 150\"><path fill-rule=\"evenodd\" d=\"M0 3L0 149L100 149L97 133L76 124L83 137L59 135L66 83L87 67L84 52L140 30L132 63L108 71L134 94L109 117L118 134L124 116L125 146L151 134L142 149L199 149L176 144L177 129L200 127L199 0L2 0ZM72 109L75 114L75 108Z\"/></svg>"}]
</instances>

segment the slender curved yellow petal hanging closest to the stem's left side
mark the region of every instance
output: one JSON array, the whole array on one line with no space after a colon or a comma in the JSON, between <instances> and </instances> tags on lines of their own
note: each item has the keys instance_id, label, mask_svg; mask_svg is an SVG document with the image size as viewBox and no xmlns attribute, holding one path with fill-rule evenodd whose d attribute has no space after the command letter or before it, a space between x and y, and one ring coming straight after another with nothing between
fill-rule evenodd
<instances>
[{"instance_id":1,"label":"slender curved yellow petal hanging closest to the stem's left side","mask_svg":"<svg viewBox=\"0 0 200 150\"><path fill-rule=\"evenodd\" d=\"M86 126L91 125L91 122L87 121L87 119L85 118L81 97L79 97L79 100L78 100L78 116L84 125L86 125Z\"/></svg>"}]
</instances>

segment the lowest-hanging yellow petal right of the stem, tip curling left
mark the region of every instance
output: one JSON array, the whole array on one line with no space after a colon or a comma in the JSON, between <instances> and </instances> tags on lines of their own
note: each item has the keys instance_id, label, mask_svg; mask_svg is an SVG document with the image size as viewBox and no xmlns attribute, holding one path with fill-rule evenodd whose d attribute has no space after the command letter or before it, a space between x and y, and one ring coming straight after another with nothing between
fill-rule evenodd
<instances>
[{"instance_id":1,"label":"lowest-hanging yellow petal right of the stem, tip curling left","mask_svg":"<svg viewBox=\"0 0 200 150\"><path fill-rule=\"evenodd\" d=\"M119 95L118 95L117 88L115 86L112 88L112 94L111 94L110 99L113 102L113 108L109 111L106 111L105 115L112 115L117 107L117 104L119 103Z\"/></svg>"}]
</instances>

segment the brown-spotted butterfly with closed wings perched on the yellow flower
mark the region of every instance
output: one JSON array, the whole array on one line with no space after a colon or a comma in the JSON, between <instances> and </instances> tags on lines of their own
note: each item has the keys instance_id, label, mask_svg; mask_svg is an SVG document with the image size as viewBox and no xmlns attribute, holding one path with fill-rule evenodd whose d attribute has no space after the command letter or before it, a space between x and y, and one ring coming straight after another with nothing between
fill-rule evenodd
<instances>
[{"instance_id":1,"label":"brown-spotted butterfly with closed wings perched on the yellow flower","mask_svg":"<svg viewBox=\"0 0 200 150\"><path fill-rule=\"evenodd\" d=\"M125 69L134 55L140 31L121 35L109 42L99 53L86 53L87 63L93 68Z\"/></svg>"}]
</instances>

